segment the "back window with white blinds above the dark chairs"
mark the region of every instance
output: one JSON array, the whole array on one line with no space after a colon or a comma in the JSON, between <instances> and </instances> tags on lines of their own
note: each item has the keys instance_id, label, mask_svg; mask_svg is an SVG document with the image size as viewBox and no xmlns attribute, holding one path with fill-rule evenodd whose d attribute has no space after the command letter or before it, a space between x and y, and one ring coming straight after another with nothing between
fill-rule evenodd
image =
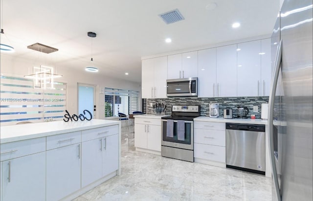
<instances>
[{"instance_id":1,"label":"back window with white blinds above the dark chairs","mask_svg":"<svg viewBox=\"0 0 313 201\"><path fill-rule=\"evenodd\" d=\"M105 88L105 116L118 116L138 111L139 91Z\"/></svg>"}]
</instances>

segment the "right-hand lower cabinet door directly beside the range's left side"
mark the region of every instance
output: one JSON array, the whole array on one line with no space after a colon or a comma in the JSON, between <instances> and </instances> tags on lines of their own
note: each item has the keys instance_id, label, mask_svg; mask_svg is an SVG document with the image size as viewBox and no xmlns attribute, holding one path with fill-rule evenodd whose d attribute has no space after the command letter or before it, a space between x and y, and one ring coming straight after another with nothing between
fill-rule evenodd
<instances>
[{"instance_id":1,"label":"right-hand lower cabinet door directly beside the range's left side","mask_svg":"<svg viewBox=\"0 0 313 201\"><path fill-rule=\"evenodd\" d=\"M147 149L161 151L161 126L147 126Z\"/></svg>"}]
</instances>

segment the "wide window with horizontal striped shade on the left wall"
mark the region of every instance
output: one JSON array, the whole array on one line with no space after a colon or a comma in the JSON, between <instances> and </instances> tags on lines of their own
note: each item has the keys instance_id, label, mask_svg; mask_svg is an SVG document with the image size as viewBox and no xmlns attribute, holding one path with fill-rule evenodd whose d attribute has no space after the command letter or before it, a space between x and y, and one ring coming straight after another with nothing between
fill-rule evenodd
<instances>
[{"instance_id":1,"label":"wide window with horizontal striped shade on the left wall","mask_svg":"<svg viewBox=\"0 0 313 201\"><path fill-rule=\"evenodd\" d=\"M66 110L66 83L54 82L54 89L33 89L33 80L1 76L1 126L21 121L61 120Z\"/></svg>"}]
</instances>

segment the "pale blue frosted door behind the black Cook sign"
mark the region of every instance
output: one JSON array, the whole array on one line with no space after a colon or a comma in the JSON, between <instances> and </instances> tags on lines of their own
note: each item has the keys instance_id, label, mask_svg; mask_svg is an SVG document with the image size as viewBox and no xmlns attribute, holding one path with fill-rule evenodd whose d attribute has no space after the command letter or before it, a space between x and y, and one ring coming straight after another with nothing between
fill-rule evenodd
<instances>
[{"instance_id":1,"label":"pale blue frosted door behind the black Cook sign","mask_svg":"<svg viewBox=\"0 0 313 201\"><path fill-rule=\"evenodd\" d=\"M78 83L78 114L83 114L84 110L88 110L92 114L92 118L96 118L96 86Z\"/></svg>"}]
</instances>

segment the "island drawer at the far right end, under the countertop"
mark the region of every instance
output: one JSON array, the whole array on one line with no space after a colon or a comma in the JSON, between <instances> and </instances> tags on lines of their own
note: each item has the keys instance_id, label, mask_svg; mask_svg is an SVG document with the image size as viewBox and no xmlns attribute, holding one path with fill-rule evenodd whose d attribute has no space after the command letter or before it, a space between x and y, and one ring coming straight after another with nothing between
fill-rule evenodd
<instances>
[{"instance_id":1,"label":"island drawer at the far right end, under the countertop","mask_svg":"<svg viewBox=\"0 0 313 201\"><path fill-rule=\"evenodd\" d=\"M105 137L112 134L118 134L118 125L84 130L82 131L82 142L97 139L100 137Z\"/></svg>"}]
</instances>

